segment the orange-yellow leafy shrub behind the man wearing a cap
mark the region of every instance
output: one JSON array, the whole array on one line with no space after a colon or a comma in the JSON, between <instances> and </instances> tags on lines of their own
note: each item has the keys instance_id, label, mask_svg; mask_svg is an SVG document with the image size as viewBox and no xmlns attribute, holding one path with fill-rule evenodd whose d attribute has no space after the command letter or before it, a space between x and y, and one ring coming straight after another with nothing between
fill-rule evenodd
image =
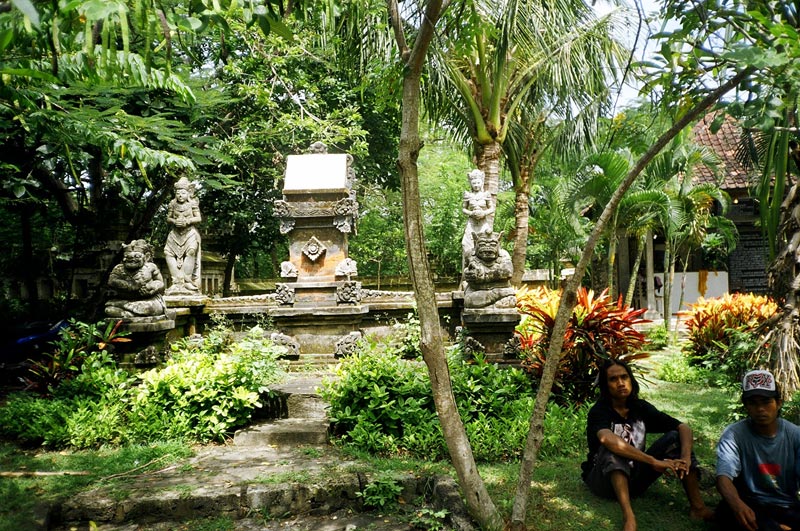
<instances>
[{"instance_id":1,"label":"orange-yellow leafy shrub behind the man wearing a cap","mask_svg":"<svg viewBox=\"0 0 800 531\"><path fill-rule=\"evenodd\" d=\"M738 382L761 339L759 327L777 310L769 297L744 293L690 304L685 322L689 362L723 375L723 384Z\"/></svg>"}]
</instances>

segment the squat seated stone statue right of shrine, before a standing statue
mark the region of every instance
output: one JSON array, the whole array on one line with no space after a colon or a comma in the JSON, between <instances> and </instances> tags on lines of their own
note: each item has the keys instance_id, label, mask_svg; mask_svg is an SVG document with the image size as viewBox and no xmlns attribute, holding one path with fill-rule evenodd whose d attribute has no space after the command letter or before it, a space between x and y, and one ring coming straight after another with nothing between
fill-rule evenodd
<instances>
[{"instance_id":1,"label":"squat seated stone statue right of shrine, before a standing statue","mask_svg":"<svg viewBox=\"0 0 800 531\"><path fill-rule=\"evenodd\" d=\"M509 280L511 256L500 247L502 233L472 233L475 249L464 268L464 308L514 308L516 291Z\"/></svg>"}]
</instances>

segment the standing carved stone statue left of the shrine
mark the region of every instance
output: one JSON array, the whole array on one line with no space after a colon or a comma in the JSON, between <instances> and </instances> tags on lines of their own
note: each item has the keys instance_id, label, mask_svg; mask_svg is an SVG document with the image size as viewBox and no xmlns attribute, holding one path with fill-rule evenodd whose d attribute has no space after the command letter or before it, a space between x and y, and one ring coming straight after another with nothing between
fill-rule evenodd
<instances>
[{"instance_id":1,"label":"standing carved stone statue left of the shrine","mask_svg":"<svg viewBox=\"0 0 800 531\"><path fill-rule=\"evenodd\" d=\"M175 198L167 208L167 223L172 229L164 246L164 256L172 277L167 295L196 295L200 292L200 204L195 184L186 177L175 183Z\"/></svg>"}]
</instances>

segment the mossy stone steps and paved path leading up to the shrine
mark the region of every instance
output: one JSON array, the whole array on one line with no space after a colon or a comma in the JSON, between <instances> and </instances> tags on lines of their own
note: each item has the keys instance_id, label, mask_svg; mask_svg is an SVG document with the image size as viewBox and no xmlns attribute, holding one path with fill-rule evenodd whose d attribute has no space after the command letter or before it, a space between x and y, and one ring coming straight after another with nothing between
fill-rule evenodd
<instances>
[{"instance_id":1,"label":"mossy stone steps and paved path leading up to the shrine","mask_svg":"<svg viewBox=\"0 0 800 531\"><path fill-rule=\"evenodd\" d=\"M122 487L98 485L61 500L35 529L172 531L186 529L185 522L192 519L222 516L235 522L236 531L278 529L254 520L257 514L307 520L291 528L276 521L281 530L408 529L407 523L389 523L380 513L362 512L363 499L357 493L372 478L354 470L356 463L328 444L320 381L319 376L294 376L274 389L283 418L252 424L236 432L232 444L205 446L180 465L132 475ZM275 409L274 403L270 409ZM435 507L446 507L446 529L473 531L452 478L404 474L398 481L404 499L425 498Z\"/></svg>"}]
</instances>

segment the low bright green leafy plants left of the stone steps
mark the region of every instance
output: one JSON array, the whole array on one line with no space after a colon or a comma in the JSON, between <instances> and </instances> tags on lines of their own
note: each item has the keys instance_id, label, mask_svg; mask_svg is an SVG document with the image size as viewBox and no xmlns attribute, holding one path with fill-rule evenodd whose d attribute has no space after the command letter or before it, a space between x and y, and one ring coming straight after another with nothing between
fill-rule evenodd
<instances>
[{"instance_id":1,"label":"low bright green leafy plants left of the stone steps","mask_svg":"<svg viewBox=\"0 0 800 531\"><path fill-rule=\"evenodd\" d=\"M173 344L164 367L134 375L98 344L71 356L69 377L51 379L44 394L9 395L0 406L0 435L53 448L222 441L282 378L282 353L259 327L234 341L220 326L199 341Z\"/></svg>"}]
</instances>

